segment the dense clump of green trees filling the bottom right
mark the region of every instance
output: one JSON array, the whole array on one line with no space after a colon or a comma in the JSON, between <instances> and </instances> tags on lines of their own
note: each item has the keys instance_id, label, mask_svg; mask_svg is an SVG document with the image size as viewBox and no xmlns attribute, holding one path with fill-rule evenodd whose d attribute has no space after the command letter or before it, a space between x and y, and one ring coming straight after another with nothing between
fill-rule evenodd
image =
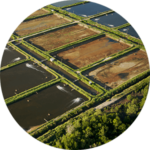
<instances>
[{"instance_id":1,"label":"dense clump of green trees filling the bottom right","mask_svg":"<svg viewBox=\"0 0 150 150\"><path fill-rule=\"evenodd\" d=\"M60 150L79 150L101 147L112 142L135 122L141 113L140 109L145 105L149 88L147 85L141 89L142 100L128 95L130 102L120 105L114 112L90 109L78 118L71 119L63 129L55 130L55 139L46 145Z\"/></svg>"}]
</instances>

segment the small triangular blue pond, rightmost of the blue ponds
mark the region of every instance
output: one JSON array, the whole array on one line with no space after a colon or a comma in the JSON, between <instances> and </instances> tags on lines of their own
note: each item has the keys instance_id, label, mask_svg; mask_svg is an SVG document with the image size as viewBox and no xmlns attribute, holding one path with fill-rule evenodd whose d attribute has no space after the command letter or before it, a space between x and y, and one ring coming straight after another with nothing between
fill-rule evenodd
<instances>
[{"instance_id":1,"label":"small triangular blue pond, rightmost of the blue ponds","mask_svg":"<svg viewBox=\"0 0 150 150\"><path fill-rule=\"evenodd\" d=\"M140 34L138 33L138 31L135 29L135 27L133 25L130 25L130 26L122 28L122 29L119 29L119 31L125 32L125 33L127 33L131 36L134 36L136 38L141 39Z\"/></svg>"}]
</instances>

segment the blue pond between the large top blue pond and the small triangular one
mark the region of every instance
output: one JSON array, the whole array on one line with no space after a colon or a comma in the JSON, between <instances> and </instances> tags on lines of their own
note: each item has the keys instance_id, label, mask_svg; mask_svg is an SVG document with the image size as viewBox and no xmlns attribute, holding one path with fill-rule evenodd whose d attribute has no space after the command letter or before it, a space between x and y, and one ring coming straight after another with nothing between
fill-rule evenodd
<instances>
[{"instance_id":1,"label":"blue pond between the large top blue pond and the small triangular one","mask_svg":"<svg viewBox=\"0 0 150 150\"><path fill-rule=\"evenodd\" d=\"M129 22L124 16L118 12L109 13L101 17L91 19L94 22L106 25L108 27L117 27Z\"/></svg>"}]
</instances>

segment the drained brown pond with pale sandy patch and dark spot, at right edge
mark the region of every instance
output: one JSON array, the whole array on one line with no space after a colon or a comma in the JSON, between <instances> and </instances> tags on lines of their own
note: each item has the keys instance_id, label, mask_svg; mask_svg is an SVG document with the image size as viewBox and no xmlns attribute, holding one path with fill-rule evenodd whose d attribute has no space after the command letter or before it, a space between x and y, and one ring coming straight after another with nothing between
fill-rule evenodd
<instances>
[{"instance_id":1,"label":"drained brown pond with pale sandy patch and dark spot, at right edge","mask_svg":"<svg viewBox=\"0 0 150 150\"><path fill-rule=\"evenodd\" d=\"M96 80L115 88L147 69L150 69L148 54L138 50L89 72L89 76L95 76Z\"/></svg>"}]
</instances>

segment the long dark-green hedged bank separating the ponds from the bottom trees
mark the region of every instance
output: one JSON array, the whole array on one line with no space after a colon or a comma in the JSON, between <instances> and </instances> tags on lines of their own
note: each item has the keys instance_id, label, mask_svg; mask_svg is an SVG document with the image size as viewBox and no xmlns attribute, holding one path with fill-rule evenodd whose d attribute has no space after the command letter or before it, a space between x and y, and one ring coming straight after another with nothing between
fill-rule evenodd
<instances>
[{"instance_id":1,"label":"long dark-green hedged bank separating the ponds from the bottom trees","mask_svg":"<svg viewBox=\"0 0 150 150\"><path fill-rule=\"evenodd\" d=\"M117 88L108 91L101 97L93 98L90 101L83 102L81 106L79 106L77 109L73 110L71 113L68 113L67 115L63 116L62 118L59 118L58 120L54 121L51 120L47 124L39 127L37 130L34 130L29 133L29 136L38 140L41 142L46 136L51 138L52 128L56 127L58 124L62 124L65 121L67 121L69 118L72 118L74 116L79 115L85 110L88 110L91 107L95 107L96 105L99 105L100 103L104 102L106 99L109 99L110 97L114 96L115 94L118 94L119 92L122 92L124 89L128 88L129 86L135 84L135 83L141 83L139 82L143 78L149 76L150 69L143 72L142 74L128 80L124 84L118 86ZM150 79L150 78L148 78ZM75 115L76 114L76 115ZM68 116L69 115L69 116Z\"/></svg>"}]
</instances>

